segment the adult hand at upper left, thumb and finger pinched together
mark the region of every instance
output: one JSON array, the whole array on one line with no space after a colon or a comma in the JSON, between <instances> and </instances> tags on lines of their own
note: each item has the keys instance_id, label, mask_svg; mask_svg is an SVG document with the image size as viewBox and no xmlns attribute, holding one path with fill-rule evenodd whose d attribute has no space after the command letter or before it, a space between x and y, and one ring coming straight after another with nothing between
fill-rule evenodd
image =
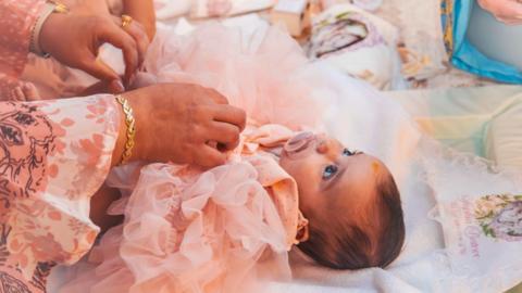
<instances>
[{"instance_id":1,"label":"adult hand at upper left, thumb and finger pinched together","mask_svg":"<svg viewBox=\"0 0 522 293\"><path fill-rule=\"evenodd\" d=\"M97 55L104 42L120 48L125 61L124 81L128 84L145 60L149 42L138 23L130 23L125 30L117 17L75 8L66 14L53 13L47 18L39 36L40 47L59 62L110 84L112 92L122 92L120 76Z\"/></svg>"}]
</instances>

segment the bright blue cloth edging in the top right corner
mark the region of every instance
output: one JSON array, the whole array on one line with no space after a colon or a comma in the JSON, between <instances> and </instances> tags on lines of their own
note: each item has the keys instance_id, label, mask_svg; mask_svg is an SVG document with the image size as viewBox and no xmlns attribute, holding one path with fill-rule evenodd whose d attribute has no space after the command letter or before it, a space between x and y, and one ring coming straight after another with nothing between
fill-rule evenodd
<instances>
[{"instance_id":1,"label":"bright blue cloth edging in the top right corner","mask_svg":"<svg viewBox=\"0 0 522 293\"><path fill-rule=\"evenodd\" d=\"M452 2L452 3L450 3ZM475 0L443 1L443 26L451 25L450 62L457 68L508 84L522 84L522 72L481 53L465 36Z\"/></svg>"}]
</instances>

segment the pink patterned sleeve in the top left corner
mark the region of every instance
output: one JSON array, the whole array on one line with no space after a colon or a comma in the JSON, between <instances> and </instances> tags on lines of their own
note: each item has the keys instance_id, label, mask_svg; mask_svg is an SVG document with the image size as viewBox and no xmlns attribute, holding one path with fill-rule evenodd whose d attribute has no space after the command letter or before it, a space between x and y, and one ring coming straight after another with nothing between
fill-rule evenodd
<instances>
[{"instance_id":1,"label":"pink patterned sleeve in the top left corner","mask_svg":"<svg viewBox=\"0 0 522 293\"><path fill-rule=\"evenodd\" d=\"M0 1L0 97L5 97L22 74L29 53L33 26L45 0ZM1 100L1 99L0 99Z\"/></svg>"}]
</instances>

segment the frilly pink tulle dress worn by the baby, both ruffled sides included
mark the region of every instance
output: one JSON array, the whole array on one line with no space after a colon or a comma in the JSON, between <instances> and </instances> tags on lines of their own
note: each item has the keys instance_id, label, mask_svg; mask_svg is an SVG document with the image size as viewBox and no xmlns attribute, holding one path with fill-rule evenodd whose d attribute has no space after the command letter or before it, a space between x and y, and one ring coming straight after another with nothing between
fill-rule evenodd
<instances>
[{"instance_id":1,"label":"frilly pink tulle dress worn by the baby, both ruffled sides included","mask_svg":"<svg viewBox=\"0 0 522 293\"><path fill-rule=\"evenodd\" d=\"M318 107L299 46L274 28L246 40L235 29L203 26L188 37L160 31L148 78L215 88L247 111L249 127L228 163L202 171L153 164L115 170L124 214L60 292L257 292L262 280L288 279L287 252L306 219L297 184L269 149L316 126ZM276 66L276 67L275 67Z\"/></svg>"}]
</instances>

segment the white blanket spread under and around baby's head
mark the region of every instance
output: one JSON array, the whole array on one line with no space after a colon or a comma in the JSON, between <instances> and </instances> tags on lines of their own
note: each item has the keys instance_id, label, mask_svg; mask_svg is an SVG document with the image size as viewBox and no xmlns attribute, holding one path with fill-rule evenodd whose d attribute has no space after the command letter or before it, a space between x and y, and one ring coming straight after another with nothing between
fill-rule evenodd
<instances>
[{"instance_id":1,"label":"white blanket spread under and around baby's head","mask_svg":"<svg viewBox=\"0 0 522 293\"><path fill-rule=\"evenodd\" d=\"M437 201L459 201L467 194L520 194L520 174L493 175L482 160L422 138L393 100L331 71L325 71L324 78L331 85L316 94L332 100L328 132L350 148L375 153L398 179L406 218L405 249L386 270L359 271L322 268L295 253L295 283L274 283L270 292L501 292L522 281L522 262L517 257L522 255L522 239L517 245L482 237L481 257L470 259L455 254L459 243L450 235L461 231L451 222L443 231L432 219L435 215L431 216Z\"/></svg>"}]
</instances>

